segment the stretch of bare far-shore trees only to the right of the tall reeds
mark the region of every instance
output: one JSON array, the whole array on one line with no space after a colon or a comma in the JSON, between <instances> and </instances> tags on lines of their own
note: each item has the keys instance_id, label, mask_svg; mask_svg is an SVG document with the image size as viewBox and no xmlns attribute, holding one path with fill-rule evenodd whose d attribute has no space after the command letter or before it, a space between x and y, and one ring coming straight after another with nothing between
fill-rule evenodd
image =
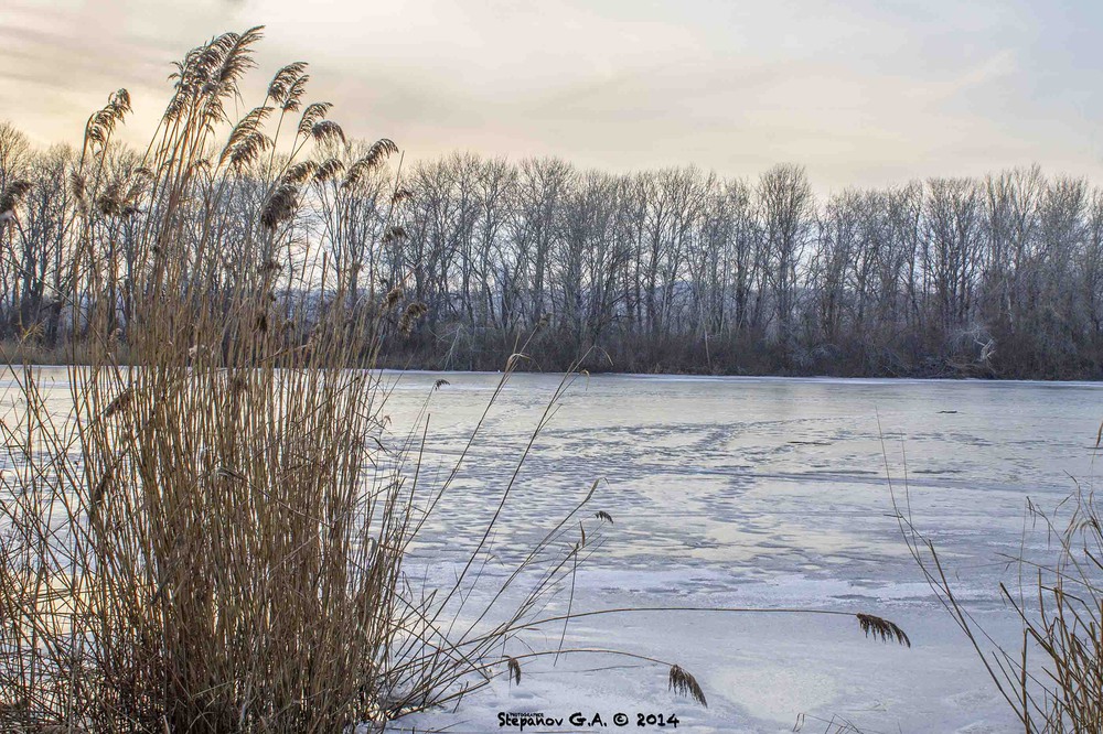
<instances>
[{"instance_id":1,"label":"stretch of bare far-shore trees only to the right of the tall reeds","mask_svg":"<svg viewBox=\"0 0 1103 734\"><path fill-rule=\"evenodd\" d=\"M1103 359L1103 192L1037 168L817 199L754 182L453 155L404 176L379 267L429 304L424 356L491 367L538 324L560 366L1072 377ZM458 348L459 346L459 348Z\"/></svg>"}]
</instances>

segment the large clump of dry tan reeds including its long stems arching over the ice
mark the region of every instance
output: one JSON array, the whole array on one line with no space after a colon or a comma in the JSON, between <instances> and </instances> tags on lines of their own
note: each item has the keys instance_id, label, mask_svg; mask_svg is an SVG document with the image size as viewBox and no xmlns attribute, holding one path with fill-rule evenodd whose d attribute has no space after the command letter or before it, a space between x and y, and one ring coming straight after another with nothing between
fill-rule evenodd
<instances>
[{"instance_id":1,"label":"large clump of dry tan reeds including its long stems arching over the ice","mask_svg":"<svg viewBox=\"0 0 1103 734\"><path fill-rule=\"evenodd\" d=\"M342 197L379 175L395 144L354 155L324 118L329 105L307 104L301 63L232 123L259 39L258 29L227 33L190 52L142 154L113 142L130 110L125 90L86 126L71 181L68 282L79 295L66 307L82 337L67 355L66 408L18 350L8 366L18 387L0 421L0 727L383 725L499 676L520 682L523 660L568 652L649 660L672 690L705 703L668 661L565 643L577 616L632 611L572 609L569 581L611 520L582 512L597 483L506 573L485 573L525 456L570 375L488 515L451 539L465 554L454 575L413 583L410 549L524 345L450 473L427 486L425 422L388 429L374 369L424 305L400 283L376 294L354 258L320 255L300 223L304 198L319 196L340 245L356 216ZM403 198L395 184L392 201ZM557 594L566 614L549 611ZM907 641L891 623L857 619L867 635ZM555 629L559 641L507 654L531 629Z\"/></svg>"}]
</instances>

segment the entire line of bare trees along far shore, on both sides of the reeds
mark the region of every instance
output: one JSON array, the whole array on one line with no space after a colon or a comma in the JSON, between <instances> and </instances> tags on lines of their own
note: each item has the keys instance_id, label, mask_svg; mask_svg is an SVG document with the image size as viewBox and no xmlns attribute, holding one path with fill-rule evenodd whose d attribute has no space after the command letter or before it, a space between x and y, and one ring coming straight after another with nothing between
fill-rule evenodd
<instances>
[{"instance_id":1,"label":"entire line of bare trees along far shore, on both sides of the reeds","mask_svg":"<svg viewBox=\"0 0 1103 734\"><path fill-rule=\"evenodd\" d=\"M425 313L395 330L393 365L496 369L523 347L540 369L589 350L591 369L627 371L1103 376L1103 192L1083 180L1032 168L817 198L793 165L754 181L474 155L357 169L372 150L332 136L297 164L278 251L243 230L278 198L248 165L212 166L227 181L176 236L217 228L227 282L260 262L276 290L340 287L368 310L399 287ZM148 172L135 151L103 156L108 251L82 272L79 158L0 127L0 338L79 339L62 304L97 292L125 342L141 307L129 233Z\"/></svg>"}]
</instances>

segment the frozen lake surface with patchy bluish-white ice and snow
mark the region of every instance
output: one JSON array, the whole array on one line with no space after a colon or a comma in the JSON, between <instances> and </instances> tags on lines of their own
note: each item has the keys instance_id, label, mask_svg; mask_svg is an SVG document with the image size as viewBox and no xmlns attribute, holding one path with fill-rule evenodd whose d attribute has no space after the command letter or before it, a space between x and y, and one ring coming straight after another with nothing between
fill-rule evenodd
<instances>
[{"instance_id":1,"label":"frozen lake surface with patchy bluish-white ice and snow","mask_svg":"<svg viewBox=\"0 0 1103 734\"><path fill-rule=\"evenodd\" d=\"M58 404L65 371L55 380ZM433 384L449 385L433 391ZM422 466L451 468L499 376L388 375L386 411L407 429L427 396ZM415 565L449 578L481 532L558 376L515 375L440 506ZM0 382L0 392L10 382ZM1002 554L1022 541L1026 501L1052 507L1092 475L1103 411L1094 384L593 376L576 381L537 439L503 510L503 559L602 479L604 543L577 575L576 612L619 606L808 607L899 623L911 649L867 640L844 617L641 613L572 622L567 644L678 662L709 700L667 691L665 669L570 656L525 667L456 712L408 719L452 733L500 730L497 712L675 713L689 732L1002 732L1014 720L907 554L886 482L904 465L917 523L997 639L1018 627L997 598ZM10 395L10 393L9 393ZM904 460L906 455L906 460ZM1035 542L1036 537L1031 536ZM429 571L427 571L429 573ZM493 573L491 569L488 573ZM447 582L446 582L447 583ZM544 640L554 648L558 634ZM613 728L613 727L610 727ZM556 730L575 731L567 726ZM614 730L615 731L615 730Z\"/></svg>"}]
</instances>

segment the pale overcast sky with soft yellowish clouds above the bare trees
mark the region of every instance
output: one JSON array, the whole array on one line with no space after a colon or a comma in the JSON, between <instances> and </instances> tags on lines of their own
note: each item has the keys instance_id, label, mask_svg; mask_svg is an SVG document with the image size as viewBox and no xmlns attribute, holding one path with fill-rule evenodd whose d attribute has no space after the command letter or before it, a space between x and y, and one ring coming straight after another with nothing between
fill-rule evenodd
<instances>
[{"instance_id":1,"label":"pale overcast sky with soft yellowish clouds above the bare trees","mask_svg":"<svg viewBox=\"0 0 1103 734\"><path fill-rule=\"evenodd\" d=\"M0 120L78 143L118 87L148 140L171 62L265 25L350 136L822 192L1040 164L1103 183L1103 3L1089 0L2 0Z\"/></svg>"}]
</instances>

